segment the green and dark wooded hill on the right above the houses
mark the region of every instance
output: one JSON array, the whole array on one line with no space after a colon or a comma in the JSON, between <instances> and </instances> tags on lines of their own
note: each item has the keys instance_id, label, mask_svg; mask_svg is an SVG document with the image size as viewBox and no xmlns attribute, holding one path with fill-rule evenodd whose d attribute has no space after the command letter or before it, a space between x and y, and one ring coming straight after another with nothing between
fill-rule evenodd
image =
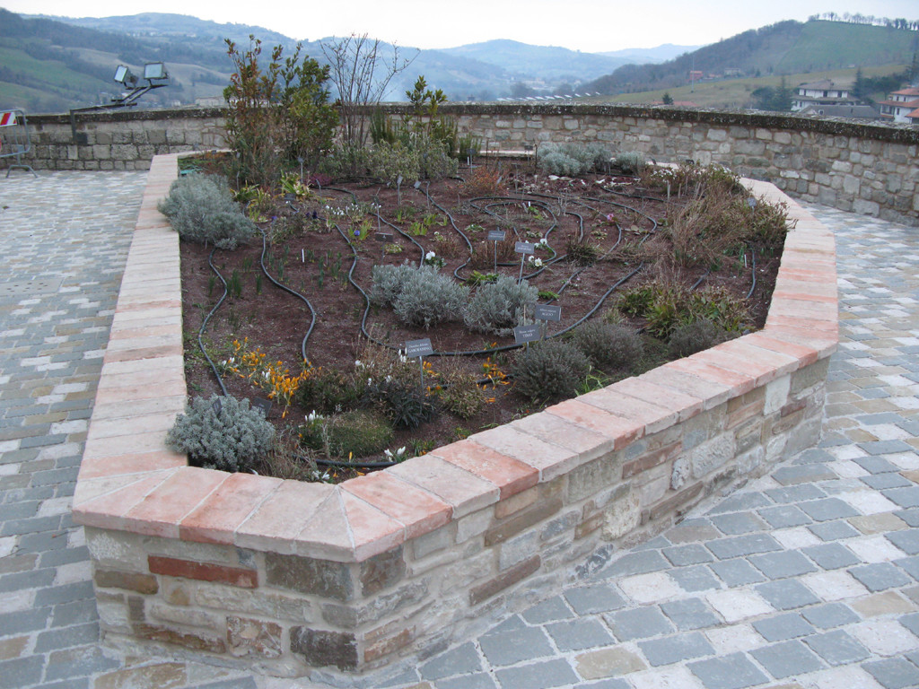
<instances>
[{"instance_id":1,"label":"green and dark wooded hill on the right above the houses","mask_svg":"<svg viewBox=\"0 0 919 689\"><path fill-rule=\"evenodd\" d=\"M607 95L685 85L698 78L807 73L849 66L909 64L919 31L841 21L782 21L661 64L629 64L584 85Z\"/></svg>"}]
</instances>

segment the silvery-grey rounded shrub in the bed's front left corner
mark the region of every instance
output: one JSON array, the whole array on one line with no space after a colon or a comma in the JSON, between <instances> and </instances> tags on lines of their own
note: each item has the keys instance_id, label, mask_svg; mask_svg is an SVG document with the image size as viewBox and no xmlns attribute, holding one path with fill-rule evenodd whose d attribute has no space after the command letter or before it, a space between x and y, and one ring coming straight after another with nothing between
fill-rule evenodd
<instances>
[{"instance_id":1,"label":"silvery-grey rounded shrub in the bed's front left corner","mask_svg":"<svg viewBox=\"0 0 919 689\"><path fill-rule=\"evenodd\" d=\"M214 410L220 400L221 412ZM166 434L166 446L187 454L188 461L205 469L248 471L271 449L275 427L248 400L213 395L195 398L179 414Z\"/></svg>"}]
</instances>

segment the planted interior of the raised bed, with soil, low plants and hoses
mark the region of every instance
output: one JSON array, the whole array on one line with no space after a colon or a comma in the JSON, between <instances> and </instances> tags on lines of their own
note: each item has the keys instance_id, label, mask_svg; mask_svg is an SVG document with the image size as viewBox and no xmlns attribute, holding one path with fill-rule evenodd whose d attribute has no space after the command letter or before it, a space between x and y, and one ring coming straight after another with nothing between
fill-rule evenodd
<instances>
[{"instance_id":1,"label":"planted interior of the raised bed, with soil, low plants and hoses","mask_svg":"<svg viewBox=\"0 0 919 689\"><path fill-rule=\"evenodd\" d=\"M739 186L731 193L715 188L710 194L719 200L701 203L710 171L700 168L676 171L672 194L663 175L569 179L507 169L480 165L460 171L466 181L404 189L343 184L301 187L299 196L259 195L249 213L264 240L256 233L233 251L216 252L181 243L189 396L226 391L270 398L267 416L281 431L281 447L254 467L258 473L349 478L355 471L342 465L353 460L379 464L421 455L678 358L686 352L674 331L699 318L714 322L721 339L766 322L784 240L781 209L749 206L754 198ZM701 217L690 217L693 211ZM489 241L495 233L504 239ZM437 304L428 315L442 322L405 322L391 304L374 299L380 267L425 264L463 285L465 314L446 318L440 312L446 305ZM532 302L517 313L522 320L513 308L496 325L475 316L476 295L498 277L532 290ZM215 368L198 349L205 319L202 341ZM610 359L595 356L562 391L549 387L551 377L544 390L541 380L525 387L508 377L521 335L533 336L513 326L534 324L539 340L578 344L585 324L608 322L642 333L634 339L643 351L624 340L610 348ZM419 376L419 362L400 365L397 353L425 339L432 354ZM396 380L380 385L384 377ZM299 393L291 391L298 385ZM414 416L406 411L413 400L404 399L413 394L426 407ZM388 435L369 455L358 449L367 445L363 435L331 453L310 446L309 437L301 442L352 410L395 426L383 428ZM323 420L304 424L316 414ZM352 435L366 430L360 420Z\"/></svg>"}]
</instances>

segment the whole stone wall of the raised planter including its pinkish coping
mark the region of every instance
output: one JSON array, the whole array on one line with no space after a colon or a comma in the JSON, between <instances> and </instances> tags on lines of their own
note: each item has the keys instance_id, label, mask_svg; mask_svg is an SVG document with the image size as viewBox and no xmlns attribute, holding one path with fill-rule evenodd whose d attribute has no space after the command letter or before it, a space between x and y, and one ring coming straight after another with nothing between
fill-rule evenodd
<instances>
[{"instance_id":1,"label":"whole stone wall of the raised planter including its pinkish coping","mask_svg":"<svg viewBox=\"0 0 919 689\"><path fill-rule=\"evenodd\" d=\"M766 327L340 485L188 467L178 237L156 156L74 492L109 641L364 672L557 591L820 435L834 238L797 222Z\"/></svg>"}]
</instances>

